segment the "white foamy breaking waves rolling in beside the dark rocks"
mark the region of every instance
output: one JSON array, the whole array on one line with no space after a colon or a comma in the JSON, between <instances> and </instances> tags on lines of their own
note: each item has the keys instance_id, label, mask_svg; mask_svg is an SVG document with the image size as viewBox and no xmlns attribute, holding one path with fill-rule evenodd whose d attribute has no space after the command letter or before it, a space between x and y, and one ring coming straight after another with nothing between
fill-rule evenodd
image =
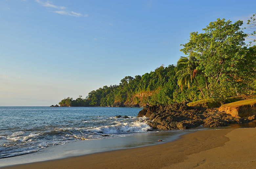
<instances>
[{"instance_id":1,"label":"white foamy breaking waves rolling in beside the dark rocks","mask_svg":"<svg viewBox=\"0 0 256 169\"><path fill-rule=\"evenodd\" d=\"M147 125L148 118L97 117L82 119L73 125L30 127L22 131L8 130L0 133L0 159L22 154L28 154L53 145L65 144L78 140L95 140L103 138L122 137L123 133L138 133L152 131Z\"/></svg>"}]
</instances>

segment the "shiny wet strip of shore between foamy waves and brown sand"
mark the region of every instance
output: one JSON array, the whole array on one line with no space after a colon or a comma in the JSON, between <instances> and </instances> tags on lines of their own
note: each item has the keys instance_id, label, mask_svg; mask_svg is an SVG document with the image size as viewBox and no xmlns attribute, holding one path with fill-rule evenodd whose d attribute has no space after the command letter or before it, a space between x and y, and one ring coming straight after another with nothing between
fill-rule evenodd
<instances>
[{"instance_id":1,"label":"shiny wet strip of shore between foamy waves and brown sand","mask_svg":"<svg viewBox=\"0 0 256 169\"><path fill-rule=\"evenodd\" d=\"M198 128L199 130L201 128ZM132 133L120 137L80 140L66 144L51 146L39 151L0 159L0 168L10 165L20 165L31 162L41 162L49 160L77 157L87 154L107 152L118 149L128 149L135 147L150 146L172 142L180 138L181 135L197 130L186 131L162 131ZM158 140L162 140L159 142Z\"/></svg>"}]
</instances>

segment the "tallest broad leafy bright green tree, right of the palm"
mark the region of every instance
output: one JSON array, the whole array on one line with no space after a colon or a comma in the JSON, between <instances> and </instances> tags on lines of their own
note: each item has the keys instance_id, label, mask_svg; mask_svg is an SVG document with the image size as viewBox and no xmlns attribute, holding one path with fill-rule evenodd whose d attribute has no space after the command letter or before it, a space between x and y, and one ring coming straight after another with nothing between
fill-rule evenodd
<instances>
[{"instance_id":1,"label":"tallest broad leafy bright green tree, right of the palm","mask_svg":"<svg viewBox=\"0 0 256 169\"><path fill-rule=\"evenodd\" d=\"M241 30L242 24L243 21L232 24L230 20L217 19L203 28L204 33L191 32L189 42L182 44L181 51L198 60L197 70L206 78L206 85L209 84L207 94L210 97L233 95L239 79L251 76L239 65L248 52L244 42L247 34ZM244 64L246 69L252 68Z\"/></svg>"}]
</instances>

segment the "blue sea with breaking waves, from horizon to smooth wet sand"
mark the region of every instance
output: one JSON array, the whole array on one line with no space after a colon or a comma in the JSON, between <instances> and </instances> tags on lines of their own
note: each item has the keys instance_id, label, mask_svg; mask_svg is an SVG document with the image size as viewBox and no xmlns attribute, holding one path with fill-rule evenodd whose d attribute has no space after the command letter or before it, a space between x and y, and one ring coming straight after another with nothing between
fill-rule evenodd
<instances>
[{"instance_id":1,"label":"blue sea with breaking waves, from horizon to smooth wet sand","mask_svg":"<svg viewBox=\"0 0 256 169\"><path fill-rule=\"evenodd\" d=\"M0 107L0 158L36 152L78 140L150 132L142 108ZM115 116L129 118L115 118Z\"/></svg>"}]
</instances>

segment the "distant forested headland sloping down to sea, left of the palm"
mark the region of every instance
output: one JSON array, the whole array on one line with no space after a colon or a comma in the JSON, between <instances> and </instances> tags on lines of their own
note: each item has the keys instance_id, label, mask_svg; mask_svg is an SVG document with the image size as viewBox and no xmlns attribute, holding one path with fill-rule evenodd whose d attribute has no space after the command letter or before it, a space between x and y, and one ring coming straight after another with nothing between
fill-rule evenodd
<instances>
[{"instance_id":1,"label":"distant forested headland sloping down to sea, left of the palm","mask_svg":"<svg viewBox=\"0 0 256 169\"><path fill-rule=\"evenodd\" d=\"M174 65L160 66L155 71L135 77L125 76L119 85L103 86L92 91L86 99L81 96L76 100L63 99L59 104L67 106L145 106L149 104L170 104L183 100L201 98L199 92L193 91L189 97L179 90ZM182 93L182 94L181 94Z\"/></svg>"}]
</instances>

